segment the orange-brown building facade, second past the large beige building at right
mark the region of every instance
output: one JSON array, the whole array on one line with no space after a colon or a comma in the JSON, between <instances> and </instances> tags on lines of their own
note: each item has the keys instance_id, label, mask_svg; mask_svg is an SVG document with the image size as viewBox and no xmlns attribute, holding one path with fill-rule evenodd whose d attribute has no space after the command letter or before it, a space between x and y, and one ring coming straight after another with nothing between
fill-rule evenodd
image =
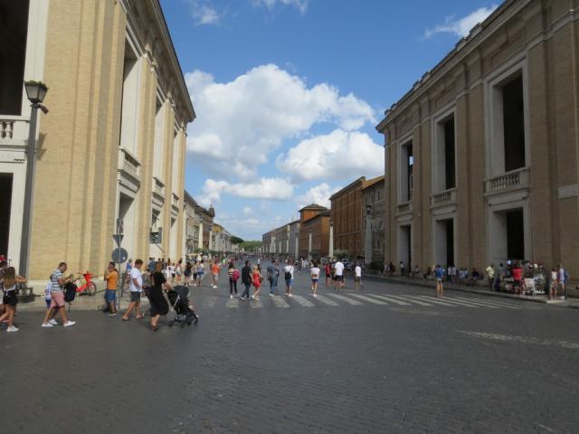
<instances>
[{"instance_id":1,"label":"orange-brown building facade, second past the large beige building at right","mask_svg":"<svg viewBox=\"0 0 579 434\"><path fill-rule=\"evenodd\" d=\"M334 226L334 250L347 251L350 259L364 257L364 186L365 176L362 176L329 198Z\"/></svg>"}]
</instances>

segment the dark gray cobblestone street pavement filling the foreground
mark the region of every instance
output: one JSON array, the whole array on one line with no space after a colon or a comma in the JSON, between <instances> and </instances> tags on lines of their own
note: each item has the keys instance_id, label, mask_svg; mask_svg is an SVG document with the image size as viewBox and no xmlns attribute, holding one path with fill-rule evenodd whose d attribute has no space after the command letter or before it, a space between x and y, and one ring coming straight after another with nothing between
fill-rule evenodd
<instances>
[{"instance_id":1,"label":"dark gray cobblestone street pavement filling the foreground","mask_svg":"<svg viewBox=\"0 0 579 434\"><path fill-rule=\"evenodd\" d=\"M23 311L3 432L576 432L576 310L371 281L315 299L304 271L299 297L243 303L221 279L193 291L199 325L156 333Z\"/></svg>"}]
</instances>

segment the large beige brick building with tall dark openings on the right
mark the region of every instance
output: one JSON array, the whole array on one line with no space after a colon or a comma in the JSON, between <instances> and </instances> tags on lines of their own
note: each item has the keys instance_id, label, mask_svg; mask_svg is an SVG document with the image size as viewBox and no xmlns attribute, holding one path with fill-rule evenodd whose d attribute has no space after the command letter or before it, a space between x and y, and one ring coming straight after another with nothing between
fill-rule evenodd
<instances>
[{"instance_id":1,"label":"large beige brick building with tall dark openings on the right","mask_svg":"<svg viewBox=\"0 0 579 434\"><path fill-rule=\"evenodd\" d=\"M386 260L579 276L578 8L504 2L386 111Z\"/></svg>"}]
</instances>

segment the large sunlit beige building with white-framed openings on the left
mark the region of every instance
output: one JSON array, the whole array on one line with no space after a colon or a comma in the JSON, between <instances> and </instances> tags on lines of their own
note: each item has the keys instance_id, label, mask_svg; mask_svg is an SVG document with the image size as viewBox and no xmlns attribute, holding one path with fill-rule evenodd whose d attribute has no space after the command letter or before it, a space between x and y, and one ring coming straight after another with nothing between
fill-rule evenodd
<instances>
[{"instance_id":1,"label":"large sunlit beige building with white-framed openings on the left","mask_svg":"<svg viewBox=\"0 0 579 434\"><path fill-rule=\"evenodd\" d=\"M195 111L158 0L0 2L0 253L18 267L30 104L40 115L30 277L101 274L117 219L132 258L184 251L185 130ZM7 223L7 224L6 224Z\"/></svg>"}]
</instances>

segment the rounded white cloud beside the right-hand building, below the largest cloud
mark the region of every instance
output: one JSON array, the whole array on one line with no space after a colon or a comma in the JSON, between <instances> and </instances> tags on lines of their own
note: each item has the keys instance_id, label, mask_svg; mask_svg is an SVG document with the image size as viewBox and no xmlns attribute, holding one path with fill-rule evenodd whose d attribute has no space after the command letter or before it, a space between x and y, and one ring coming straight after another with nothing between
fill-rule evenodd
<instances>
[{"instance_id":1,"label":"rounded white cloud beside the right-hand building, below the largest cloud","mask_svg":"<svg viewBox=\"0 0 579 434\"><path fill-rule=\"evenodd\" d=\"M355 179L384 173L384 148L365 133L337 129L308 138L280 154L277 167L295 181Z\"/></svg>"}]
</instances>

